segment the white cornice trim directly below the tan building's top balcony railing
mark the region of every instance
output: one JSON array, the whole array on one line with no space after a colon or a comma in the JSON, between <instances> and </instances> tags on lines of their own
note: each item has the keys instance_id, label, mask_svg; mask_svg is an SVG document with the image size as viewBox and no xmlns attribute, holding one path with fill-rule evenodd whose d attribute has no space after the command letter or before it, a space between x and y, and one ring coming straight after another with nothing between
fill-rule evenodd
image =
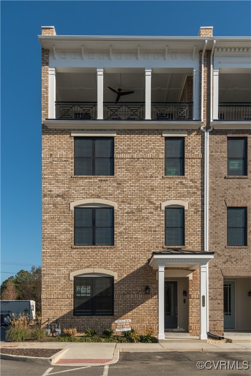
<instances>
[{"instance_id":1,"label":"white cornice trim directly below the tan building's top balcony railing","mask_svg":"<svg viewBox=\"0 0 251 376\"><path fill-rule=\"evenodd\" d=\"M195 121L109 121L109 120L44 120L49 129L198 129L203 125Z\"/></svg>"}]
</instances>

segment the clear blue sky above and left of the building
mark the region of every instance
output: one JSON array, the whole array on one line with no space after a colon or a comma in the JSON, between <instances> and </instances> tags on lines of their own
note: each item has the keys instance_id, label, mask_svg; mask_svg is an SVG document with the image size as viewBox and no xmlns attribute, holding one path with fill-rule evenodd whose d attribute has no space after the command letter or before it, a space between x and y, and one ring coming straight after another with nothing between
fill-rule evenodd
<instances>
[{"instance_id":1,"label":"clear blue sky above and left of the building","mask_svg":"<svg viewBox=\"0 0 251 376\"><path fill-rule=\"evenodd\" d=\"M58 35L250 36L251 1L0 1L1 282L41 264L41 26ZM12 273L6 273L12 272Z\"/></svg>"}]
</instances>

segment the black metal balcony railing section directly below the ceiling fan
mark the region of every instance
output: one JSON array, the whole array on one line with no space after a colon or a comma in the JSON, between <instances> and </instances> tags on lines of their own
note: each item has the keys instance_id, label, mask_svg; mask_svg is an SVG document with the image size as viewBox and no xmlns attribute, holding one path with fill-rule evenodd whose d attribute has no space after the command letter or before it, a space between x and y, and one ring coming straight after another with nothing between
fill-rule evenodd
<instances>
[{"instance_id":1,"label":"black metal balcony railing section directly below the ceiling fan","mask_svg":"<svg viewBox=\"0 0 251 376\"><path fill-rule=\"evenodd\" d=\"M144 120L144 102L104 102L104 120Z\"/></svg>"}]
</instances>

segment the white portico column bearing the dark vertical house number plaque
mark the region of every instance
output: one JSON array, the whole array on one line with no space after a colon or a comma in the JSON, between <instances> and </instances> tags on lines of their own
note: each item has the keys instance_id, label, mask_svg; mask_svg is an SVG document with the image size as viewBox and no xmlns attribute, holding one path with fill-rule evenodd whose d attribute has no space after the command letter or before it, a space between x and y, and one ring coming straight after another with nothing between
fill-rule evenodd
<instances>
[{"instance_id":1,"label":"white portico column bearing the dark vertical house number plaque","mask_svg":"<svg viewBox=\"0 0 251 376\"><path fill-rule=\"evenodd\" d=\"M207 264L200 265L200 339L207 339Z\"/></svg>"}]
</instances>

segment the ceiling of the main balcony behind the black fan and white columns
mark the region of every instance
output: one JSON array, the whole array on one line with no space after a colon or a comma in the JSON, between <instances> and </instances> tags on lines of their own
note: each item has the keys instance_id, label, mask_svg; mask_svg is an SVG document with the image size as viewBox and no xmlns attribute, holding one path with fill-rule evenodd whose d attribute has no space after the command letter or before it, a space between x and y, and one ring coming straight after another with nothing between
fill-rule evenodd
<instances>
[{"instance_id":1,"label":"ceiling of the main balcony behind the black fan and white columns","mask_svg":"<svg viewBox=\"0 0 251 376\"><path fill-rule=\"evenodd\" d=\"M188 73L152 73L151 101L178 102ZM104 73L104 102L113 102L115 90L134 91L122 96L120 102L145 101L145 72ZM58 101L97 101L97 75L95 72L57 73L56 96Z\"/></svg>"}]
</instances>

